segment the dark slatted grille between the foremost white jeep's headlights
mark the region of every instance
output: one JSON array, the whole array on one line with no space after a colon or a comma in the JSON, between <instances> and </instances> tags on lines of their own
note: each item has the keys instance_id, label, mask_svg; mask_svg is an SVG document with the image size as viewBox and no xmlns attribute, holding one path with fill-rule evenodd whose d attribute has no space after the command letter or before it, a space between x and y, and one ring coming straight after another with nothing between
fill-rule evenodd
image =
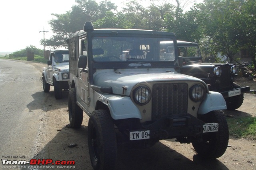
<instances>
[{"instance_id":1,"label":"dark slatted grille between the foremost white jeep's headlights","mask_svg":"<svg viewBox=\"0 0 256 170\"><path fill-rule=\"evenodd\" d=\"M164 115L187 113L188 84L154 84L152 90L152 120Z\"/></svg>"}]
</instances>

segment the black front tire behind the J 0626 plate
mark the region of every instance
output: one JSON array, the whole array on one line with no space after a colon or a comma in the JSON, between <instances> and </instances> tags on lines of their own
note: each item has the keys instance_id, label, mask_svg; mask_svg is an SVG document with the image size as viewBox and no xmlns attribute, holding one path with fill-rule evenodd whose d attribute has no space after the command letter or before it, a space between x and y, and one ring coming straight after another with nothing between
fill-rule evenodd
<instances>
[{"instance_id":1,"label":"black front tire behind the J 0626 plate","mask_svg":"<svg viewBox=\"0 0 256 170\"><path fill-rule=\"evenodd\" d=\"M211 111L205 115L200 115L199 119L205 123L218 123L218 132L203 134L203 142L192 142L198 156L204 159L216 159L222 156L228 147L228 123L224 113L219 110Z\"/></svg>"}]
</instances>

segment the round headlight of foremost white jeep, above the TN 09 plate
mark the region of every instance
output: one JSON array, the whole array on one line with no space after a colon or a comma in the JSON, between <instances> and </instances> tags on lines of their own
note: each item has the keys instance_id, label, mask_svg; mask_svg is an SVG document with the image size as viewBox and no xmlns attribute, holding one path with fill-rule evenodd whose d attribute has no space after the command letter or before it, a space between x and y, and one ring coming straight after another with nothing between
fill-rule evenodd
<instances>
[{"instance_id":1,"label":"round headlight of foremost white jeep, above the TN 09 plate","mask_svg":"<svg viewBox=\"0 0 256 170\"><path fill-rule=\"evenodd\" d=\"M150 101L151 92L147 86L139 86L133 92L133 98L136 104L144 105Z\"/></svg>"}]
</instances>

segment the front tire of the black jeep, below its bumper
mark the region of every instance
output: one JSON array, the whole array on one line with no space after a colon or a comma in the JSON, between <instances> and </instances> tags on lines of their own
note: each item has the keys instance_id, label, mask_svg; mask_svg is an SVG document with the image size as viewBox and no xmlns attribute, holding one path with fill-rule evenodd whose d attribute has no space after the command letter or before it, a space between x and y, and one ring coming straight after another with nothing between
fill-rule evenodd
<instances>
[{"instance_id":1,"label":"front tire of the black jeep, below its bumper","mask_svg":"<svg viewBox=\"0 0 256 170\"><path fill-rule=\"evenodd\" d=\"M241 88L239 84L233 82L233 88ZM244 94L240 94L238 96L233 96L231 98L226 98L226 105L228 110L235 110L238 109L244 102Z\"/></svg>"}]
</instances>

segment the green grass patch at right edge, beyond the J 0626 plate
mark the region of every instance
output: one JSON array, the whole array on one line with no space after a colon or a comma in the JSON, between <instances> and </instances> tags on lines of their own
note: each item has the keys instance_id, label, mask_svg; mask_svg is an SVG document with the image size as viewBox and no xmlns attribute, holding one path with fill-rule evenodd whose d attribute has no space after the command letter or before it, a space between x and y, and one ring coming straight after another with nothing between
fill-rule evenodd
<instances>
[{"instance_id":1,"label":"green grass patch at right edge, beyond the J 0626 plate","mask_svg":"<svg viewBox=\"0 0 256 170\"><path fill-rule=\"evenodd\" d=\"M256 117L226 117L226 119L231 136L256 140Z\"/></svg>"}]
</instances>

